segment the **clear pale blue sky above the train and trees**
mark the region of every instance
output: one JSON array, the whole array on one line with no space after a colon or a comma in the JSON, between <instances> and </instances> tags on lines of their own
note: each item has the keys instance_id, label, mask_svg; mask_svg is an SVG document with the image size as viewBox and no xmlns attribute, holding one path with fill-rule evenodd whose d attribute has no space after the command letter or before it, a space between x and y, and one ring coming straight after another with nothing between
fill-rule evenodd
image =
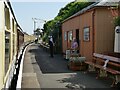
<instances>
[{"instance_id":1,"label":"clear pale blue sky above the train and trees","mask_svg":"<svg viewBox=\"0 0 120 90\"><path fill-rule=\"evenodd\" d=\"M44 2L43 2L44 1ZM15 17L23 29L23 31L28 34L33 34L34 23L32 18L38 18L43 20L52 20L57 16L59 10L67 3L74 0L39 0L36 2L33 1L12 1L11 5L15 14ZM37 20L36 28L43 28L44 22L42 20Z\"/></svg>"}]
</instances>

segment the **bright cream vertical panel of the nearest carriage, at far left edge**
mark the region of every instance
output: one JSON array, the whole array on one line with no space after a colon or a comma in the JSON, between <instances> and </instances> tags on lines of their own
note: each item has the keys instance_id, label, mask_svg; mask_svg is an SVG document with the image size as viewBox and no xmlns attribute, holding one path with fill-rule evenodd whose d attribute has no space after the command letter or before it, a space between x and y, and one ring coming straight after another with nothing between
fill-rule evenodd
<instances>
[{"instance_id":1,"label":"bright cream vertical panel of the nearest carriage, at far left edge","mask_svg":"<svg viewBox=\"0 0 120 90\"><path fill-rule=\"evenodd\" d=\"M3 88L3 81L4 81L4 3L0 1L0 90Z\"/></svg>"}]
</instances>

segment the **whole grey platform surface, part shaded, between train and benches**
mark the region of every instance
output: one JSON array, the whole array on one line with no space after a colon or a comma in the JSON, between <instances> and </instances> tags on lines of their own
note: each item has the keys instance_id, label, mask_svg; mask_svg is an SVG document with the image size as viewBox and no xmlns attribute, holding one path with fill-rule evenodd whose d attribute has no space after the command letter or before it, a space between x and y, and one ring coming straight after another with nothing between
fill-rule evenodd
<instances>
[{"instance_id":1,"label":"whole grey platform surface, part shaded, between train and benches","mask_svg":"<svg viewBox=\"0 0 120 90\"><path fill-rule=\"evenodd\" d=\"M39 44L32 44L25 53L22 88L110 89L110 79L96 79L95 73L71 71L67 68L67 62L62 55L50 58Z\"/></svg>"}]
</instances>

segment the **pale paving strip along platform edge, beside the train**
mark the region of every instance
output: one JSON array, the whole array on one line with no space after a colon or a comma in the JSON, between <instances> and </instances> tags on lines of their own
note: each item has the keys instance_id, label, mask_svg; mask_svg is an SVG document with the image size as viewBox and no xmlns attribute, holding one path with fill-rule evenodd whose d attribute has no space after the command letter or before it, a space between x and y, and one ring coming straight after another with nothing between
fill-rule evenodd
<instances>
[{"instance_id":1,"label":"pale paving strip along platform edge, beside the train","mask_svg":"<svg viewBox=\"0 0 120 90\"><path fill-rule=\"evenodd\" d=\"M37 75L32 65L35 59L29 52L30 49L31 47L28 46L24 56L21 88L40 88Z\"/></svg>"}]
</instances>

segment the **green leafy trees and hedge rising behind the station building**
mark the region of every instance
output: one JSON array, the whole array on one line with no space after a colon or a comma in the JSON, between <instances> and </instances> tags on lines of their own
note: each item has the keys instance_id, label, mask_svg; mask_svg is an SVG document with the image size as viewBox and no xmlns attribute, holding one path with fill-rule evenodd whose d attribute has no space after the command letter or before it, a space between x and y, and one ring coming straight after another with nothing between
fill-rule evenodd
<instances>
[{"instance_id":1,"label":"green leafy trees and hedge rising behind the station building","mask_svg":"<svg viewBox=\"0 0 120 90\"><path fill-rule=\"evenodd\" d=\"M61 22L92 3L93 2L75 2L74 1L74 2L68 3L64 8L61 8L59 10L58 15L53 20L50 20L44 24L43 40L47 41L48 36L52 35L56 43L56 47L58 49L56 50L59 51L60 48L62 48L60 47L62 46Z\"/></svg>"}]
</instances>

